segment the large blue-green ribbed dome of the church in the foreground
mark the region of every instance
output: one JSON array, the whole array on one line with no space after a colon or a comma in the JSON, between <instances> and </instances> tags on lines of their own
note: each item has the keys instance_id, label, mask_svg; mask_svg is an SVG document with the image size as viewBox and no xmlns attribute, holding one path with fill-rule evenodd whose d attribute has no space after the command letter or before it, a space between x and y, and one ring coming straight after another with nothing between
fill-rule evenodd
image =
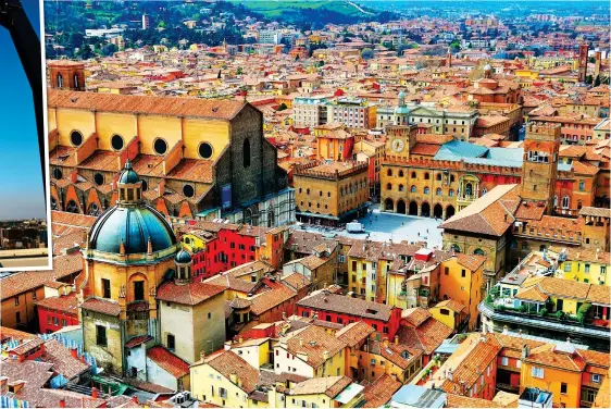
<instances>
[{"instance_id":1,"label":"large blue-green ribbed dome of the church in the foreground","mask_svg":"<svg viewBox=\"0 0 611 409\"><path fill-rule=\"evenodd\" d=\"M163 215L149 206L120 207L105 211L91 227L89 249L125 255L165 250L176 245L176 236Z\"/></svg>"}]
</instances>

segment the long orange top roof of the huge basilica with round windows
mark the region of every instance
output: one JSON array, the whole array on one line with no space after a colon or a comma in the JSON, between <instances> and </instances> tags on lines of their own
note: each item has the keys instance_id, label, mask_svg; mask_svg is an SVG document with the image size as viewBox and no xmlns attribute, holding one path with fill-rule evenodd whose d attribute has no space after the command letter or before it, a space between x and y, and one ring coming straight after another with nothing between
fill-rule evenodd
<instances>
[{"instance_id":1,"label":"long orange top roof of the huge basilica with round windows","mask_svg":"<svg viewBox=\"0 0 611 409\"><path fill-rule=\"evenodd\" d=\"M245 102L240 100L145 97L48 89L47 106L87 111L192 116L228 121L241 111Z\"/></svg>"}]
</instances>

